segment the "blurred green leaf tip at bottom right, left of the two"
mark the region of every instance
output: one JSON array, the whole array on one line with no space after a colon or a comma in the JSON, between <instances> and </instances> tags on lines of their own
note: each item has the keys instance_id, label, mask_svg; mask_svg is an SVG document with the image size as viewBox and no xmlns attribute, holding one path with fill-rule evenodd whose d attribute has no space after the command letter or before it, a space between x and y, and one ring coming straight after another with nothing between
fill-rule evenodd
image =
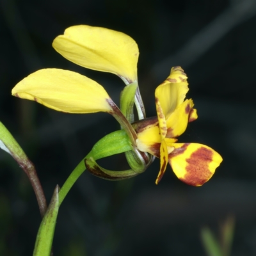
<instances>
[{"instance_id":1,"label":"blurred green leaf tip at bottom right, left of the two","mask_svg":"<svg viewBox=\"0 0 256 256\"><path fill-rule=\"evenodd\" d=\"M208 256L223 256L221 253L220 244L209 228L202 228L201 237Z\"/></svg>"}]
</instances>

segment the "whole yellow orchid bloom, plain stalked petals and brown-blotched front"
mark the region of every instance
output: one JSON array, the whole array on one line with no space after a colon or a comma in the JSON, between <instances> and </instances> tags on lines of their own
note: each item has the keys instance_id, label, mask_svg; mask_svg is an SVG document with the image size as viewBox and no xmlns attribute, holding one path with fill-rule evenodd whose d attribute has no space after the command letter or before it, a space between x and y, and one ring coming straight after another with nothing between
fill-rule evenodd
<instances>
[{"instance_id":1,"label":"whole yellow orchid bloom, plain stalked petals and brown-blotched front","mask_svg":"<svg viewBox=\"0 0 256 256\"><path fill-rule=\"evenodd\" d=\"M175 175L189 185L201 186L211 179L222 161L220 154L198 143L177 143L188 123L198 117L193 100L185 99L188 77L181 67L173 67L170 76L157 86L157 116L146 118L138 88L138 45L130 36L106 28L72 26L64 35L57 36L52 46L77 65L116 74L126 84L125 88L132 88L129 92L133 94L123 91L120 110L92 79L69 70L47 68L20 81L12 95L67 113L110 113L127 132L139 157L146 159L149 153L160 158L156 184L168 163ZM134 103L139 116L136 122L132 113Z\"/></svg>"}]
</instances>

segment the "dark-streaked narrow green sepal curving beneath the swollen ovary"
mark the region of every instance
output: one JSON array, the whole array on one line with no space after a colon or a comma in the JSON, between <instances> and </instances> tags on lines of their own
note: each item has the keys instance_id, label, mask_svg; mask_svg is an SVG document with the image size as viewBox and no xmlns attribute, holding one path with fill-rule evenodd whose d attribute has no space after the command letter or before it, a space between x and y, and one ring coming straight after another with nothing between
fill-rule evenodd
<instances>
[{"instance_id":1,"label":"dark-streaked narrow green sepal curving beneath the swollen ovary","mask_svg":"<svg viewBox=\"0 0 256 256\"><path fill-rule=\"evenodd\" d=\"M84 164L90 173L92 173L93 175L100 177L102 179L106 179L106 180L130 179L139 174L137 172L134 172L133 170L125 170L125 171L106 170L106 169L100 167L99 164L97 164L92 157L90 157L88 159L84 159Z\"/></svg>"}]
</instances>

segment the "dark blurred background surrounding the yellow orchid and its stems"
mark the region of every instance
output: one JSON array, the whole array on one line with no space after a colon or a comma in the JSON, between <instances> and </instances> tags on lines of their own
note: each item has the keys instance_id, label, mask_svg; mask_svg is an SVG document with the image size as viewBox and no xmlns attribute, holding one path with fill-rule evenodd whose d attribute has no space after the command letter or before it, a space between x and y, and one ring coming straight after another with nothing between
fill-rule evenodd
<instances>
[{"instance_id":1,"label":"dark blurred background surrounding the yellow orchid and its stems","mask_svg":"<svg viewBox=\"0 0 256 256\"><path fill-rule=\"evenodd\" d=\"M122 182L83 173L61 205L54 255L206 255L201 228L218 234L230 215L232 255L256 255L256 1L1 0L0 120L35 163L48 202L94 143L119 129L105 113L68 115L11 96L31 72L57 67L95 79L118 103L118 77L78 67L52 48L76 24L136 40L147 116L156 115L156 86L171 67L183 67L199 118L179 141L209 145L224 161L200 188L180 182L170 166L156 186L158 159ZM104 166L122 170L124 157ZM39 225L28 178L1 151L0 255L32 255Z\"/></svg>"}]
</instances>

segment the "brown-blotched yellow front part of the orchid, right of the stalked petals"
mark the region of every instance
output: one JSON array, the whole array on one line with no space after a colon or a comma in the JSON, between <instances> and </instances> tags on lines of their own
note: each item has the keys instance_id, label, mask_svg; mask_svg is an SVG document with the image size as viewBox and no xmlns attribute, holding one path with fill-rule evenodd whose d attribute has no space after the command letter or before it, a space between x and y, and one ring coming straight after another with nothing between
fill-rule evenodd
<instances>
[{"instance_id":1,"label":"brown-blotched yellow front part of the orchid, right of the stalked petals","mask_svg":"<svg viewBox=\"0 0 256 256\"><path fill-rule=\"evenodd\" d=\"M198 117L193 100L185 99L187 76L180 67L173 67L170 76L156 88L157 118L136 124L137 146L141 151L160 157L161 167L156 184L161 180L168 162L183 182L201 186L211 179L220 165L220 154L198 143L176 143L188 122Z\"/></svg>"}]
</instances>

